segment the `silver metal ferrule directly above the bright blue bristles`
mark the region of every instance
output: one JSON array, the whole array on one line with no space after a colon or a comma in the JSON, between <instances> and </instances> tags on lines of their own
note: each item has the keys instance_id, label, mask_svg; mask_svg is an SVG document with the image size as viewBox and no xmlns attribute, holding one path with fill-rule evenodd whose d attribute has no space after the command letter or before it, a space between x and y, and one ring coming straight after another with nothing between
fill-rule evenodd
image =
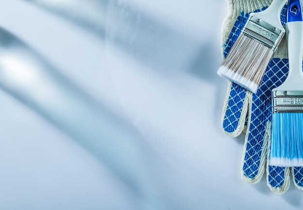
<instances>
[{"instance_id":1,"label":"silver metal ferrule directly above the bright blue bristles","mask_svg":"<svg viewBox=\"0 0 303 210\"><path fill-rule=\"evenodd\" d=\"M303 112L303 91L273 91L273 113Z\"/></svg>"}]
</instances>

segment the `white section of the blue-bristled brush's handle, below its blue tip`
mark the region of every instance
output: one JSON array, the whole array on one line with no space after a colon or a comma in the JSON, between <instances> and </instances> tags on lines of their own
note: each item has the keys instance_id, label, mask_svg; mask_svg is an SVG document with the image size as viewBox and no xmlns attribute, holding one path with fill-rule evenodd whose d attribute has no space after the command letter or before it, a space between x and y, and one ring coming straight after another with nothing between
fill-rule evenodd
<instances>
[{"instance_id":1,"label":"white section of the blue-bristled brush's handle, below its blue tip","mask_svg":"<svg viewBox=\"0 0 303 210\"><path fill-rule=\"evenodd\" d=\"M286 24L289 72L285 82L275 90L303 90L303 21Z\"/></svg>"}]
</instances>

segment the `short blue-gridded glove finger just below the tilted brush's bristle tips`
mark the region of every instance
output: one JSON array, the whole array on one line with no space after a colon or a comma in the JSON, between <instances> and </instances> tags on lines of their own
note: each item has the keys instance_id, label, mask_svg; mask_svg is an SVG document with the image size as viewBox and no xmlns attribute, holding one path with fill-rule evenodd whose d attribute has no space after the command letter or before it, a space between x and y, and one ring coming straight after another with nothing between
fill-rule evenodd
<instances>
[{"instance_id":1,"label":"short blue-gridded glove finger just below the tilted brush's bristle tips","mask_svg":"<svg viewBox=\"0 0 303 210\"><path fill-rule=\"evenodd\" d=\"M245 89L229 82L222 113L222 127L228 136L238 136L244 128L249 103L248 95Z\"/></svg>"}]
</instances>

